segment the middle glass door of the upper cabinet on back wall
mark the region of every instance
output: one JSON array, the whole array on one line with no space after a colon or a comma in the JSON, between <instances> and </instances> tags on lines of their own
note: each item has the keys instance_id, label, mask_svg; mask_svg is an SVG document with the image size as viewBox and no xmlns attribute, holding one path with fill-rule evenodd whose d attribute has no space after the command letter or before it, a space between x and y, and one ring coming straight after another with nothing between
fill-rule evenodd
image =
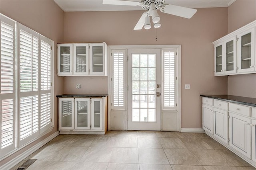
<instances>
[{"instance_id":1,"label":"middle glass door of the upper cabinet on back wall","mask_svg":"<svg viewBox=\"0 0 256 170\"><path fill-rule=\"evenodd\" d=\"M89 45L84 43L74 44L74 75L88 75L89 73Z\"/></svg>"}]
</instances>

